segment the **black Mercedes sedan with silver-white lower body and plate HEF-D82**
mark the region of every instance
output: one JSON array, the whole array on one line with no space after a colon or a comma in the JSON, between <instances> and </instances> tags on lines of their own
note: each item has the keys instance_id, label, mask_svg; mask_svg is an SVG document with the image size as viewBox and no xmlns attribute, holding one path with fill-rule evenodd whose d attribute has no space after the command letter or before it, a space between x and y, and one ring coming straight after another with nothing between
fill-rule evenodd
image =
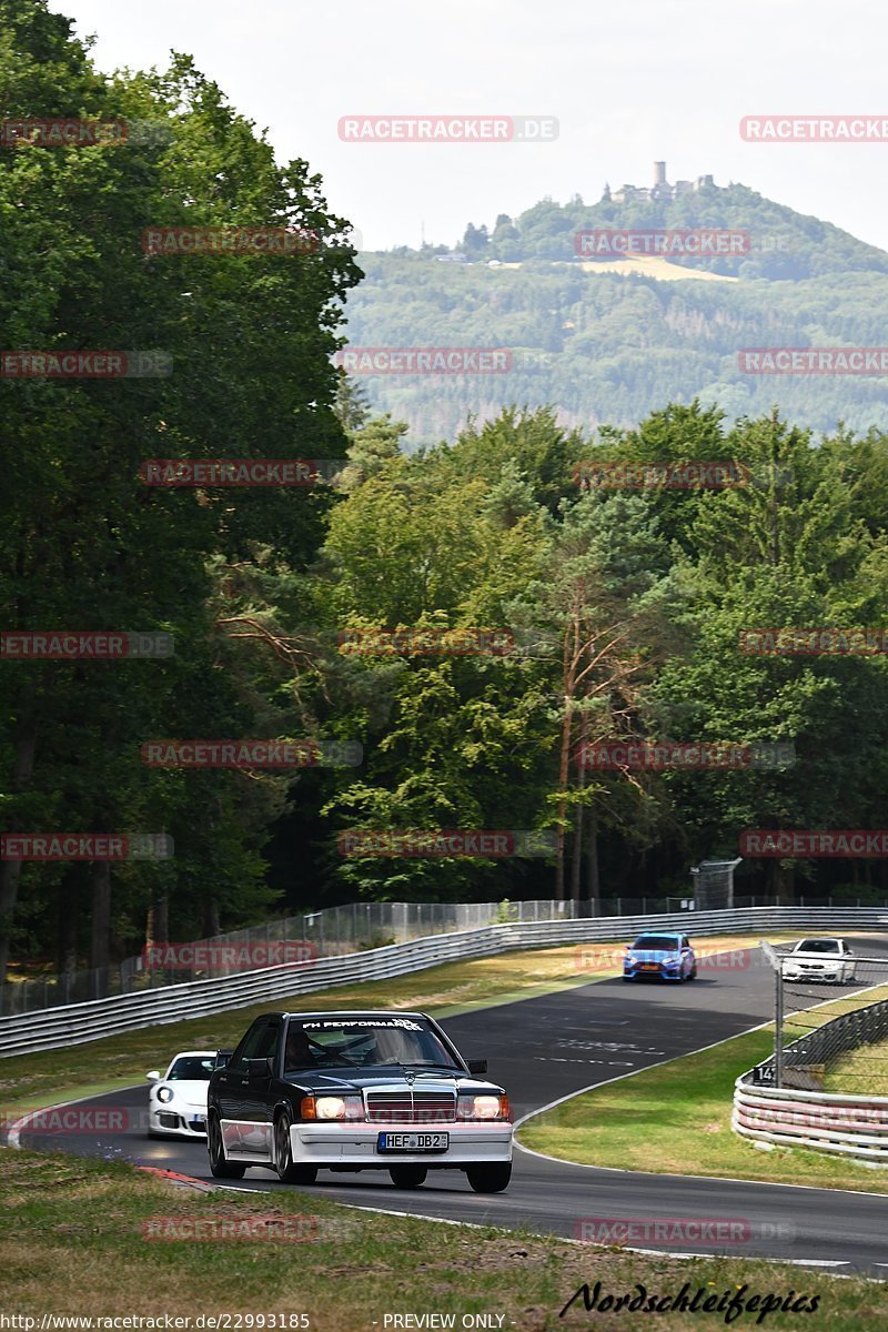
<instances>
[{"instance_id":1,"label":"black Mercedes sedan with silver-white lower body and plate HEF-D82","mask_svg":"<svg viewBox=\"0 0 888 1332\"><path fill-rule=\"evenodd\" d=\"M486 1071L421 1012L264 1014L217 1055L212 1173L264 1166L312 1184L318 1168L387 1169L398 1188L417 1188L429 1169L459 1169L475 1192L498 1193L513 1126L503 1088L478 1080Z\"/></svg>"}]
</instances>

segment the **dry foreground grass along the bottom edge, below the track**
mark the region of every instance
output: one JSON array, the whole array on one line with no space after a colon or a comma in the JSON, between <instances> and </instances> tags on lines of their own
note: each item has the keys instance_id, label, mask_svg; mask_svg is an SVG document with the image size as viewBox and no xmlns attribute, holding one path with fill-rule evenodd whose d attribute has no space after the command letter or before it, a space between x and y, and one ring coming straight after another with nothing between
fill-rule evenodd
<instances>
[{"instance_id":1,"label":"dry foreground grass along the bottom edge, below the track","mask_svg":"<svg viewBox=\"0 0 888 1332\"><path fill-rule=\"evenodd\" d=\"M212 1221L241 1225L256 1224L257 1217L273 1217L281 1229L289 1225L309 1237L196 1241L148 1239L144 1229L153 1223L156 1233L162 1224L169 1233L198 1221L206 1229ZM256 1328L257 1316L265 1315L269 1328L268 1316L274 1313L286 1319L277 1327L289 1328L298 1325L292 1317L305 1313L312 1332L383 1332L391 1313L454 1315L455 1327L463 1325L465 1315L485 1313L502 1317L499 1325L510 1332L588 1329L611 1321L615 1327L656 1323L672 1332L711 1325L712 1317L712 1325L723 1325L719 1313L710 1319L660 1313L639 1323L626 1313L602 1319L586 1312L582 1300L559 1317L582 1283L600 1281L602 1295L635 1295L640 1283L648 1293L667 1296L687 1281L691 1295L702 1288L720 1297L746 1285L746 1299L771 1292L787 1297L789 1291L808 1300L817 1296L816 1312L772 1313L764 1323L768 1329L884 1332L885 1327L884 1287L859 1279L837 1280L736 1255L679 1260L467 1229L359 1212L290 1189L272 1196L198 1193L122 1164L8 1148L0 1148L0 1272L8 1292L4 1312L37 1320L44 1313L137 1315L160 1316L162 1327L164 1315L225 1313L252 1316L253 1323L240 1325ZM732 1327L756 1327L755 1320L755 1313L746 1313ZM229 1327L238 1324L233 1320Z\"/></svg>"}]
</instances>

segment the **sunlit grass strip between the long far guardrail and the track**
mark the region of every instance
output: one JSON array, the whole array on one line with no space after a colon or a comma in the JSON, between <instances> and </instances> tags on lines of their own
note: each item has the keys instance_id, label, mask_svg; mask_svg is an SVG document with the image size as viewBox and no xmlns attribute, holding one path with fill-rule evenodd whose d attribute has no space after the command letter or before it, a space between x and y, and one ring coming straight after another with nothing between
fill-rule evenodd
<instances>
[{"instance_id":1,"label":"sunlit grass strip between the long far guardrail and the track","mask_svg":"<svg viewBox=\"0 0 888 1332\"><path fill-rule=\"evenodd\" d=\"M338 986L290 1000L276 999L249 1008L233 1008L212 1018L145 1027L84 1046L0 1059L0 1108L7 1112L15 1107L24 1112L51 1100L100 1095L140 1083L149 1068L161 1067L177 1050L234 1046L253 1018L269 1008L419 1008L446 1018L586 986L618 975L612 954L624 942L505 952L495 958L429 967L391 980ZM756 946L748 935L715 935L700 938L699 943L711 951Z\"/></svg>"}]
</instances>

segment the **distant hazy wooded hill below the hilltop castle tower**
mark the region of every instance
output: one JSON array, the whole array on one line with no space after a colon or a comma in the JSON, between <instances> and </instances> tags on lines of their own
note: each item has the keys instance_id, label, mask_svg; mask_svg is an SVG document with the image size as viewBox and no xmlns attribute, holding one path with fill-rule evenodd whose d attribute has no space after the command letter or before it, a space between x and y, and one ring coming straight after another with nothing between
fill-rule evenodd
<instances>
[{"instance_id":1,"label":"distant hazy wooded hill below the hilltop castle tower","mask_svg":"<svg viewBox=\"0 0 888 1332\"><path fill-rule=\"evenodd\" d=\"M580 261L592 228L746 230L743 256L674 260L688 280ZM410 422L411 444L453 436L467 414L554 405L567 425L632 425L666 402L719 404L730 417L775 402L815 430L888 428L888 377L754 376L750 346L888 344L888 254L743 185L671 202L535 204L469 226L459 254L365 253L349 300L355 346L505 346L513 368L481 376L362 376L371 402ZM453 256L451 256L453 258ZM490 266L493 262L493 266ZM519 266L506 266L519 265ZM735 281L699 281L707 270Z\"/></svg>"}]
</instances>

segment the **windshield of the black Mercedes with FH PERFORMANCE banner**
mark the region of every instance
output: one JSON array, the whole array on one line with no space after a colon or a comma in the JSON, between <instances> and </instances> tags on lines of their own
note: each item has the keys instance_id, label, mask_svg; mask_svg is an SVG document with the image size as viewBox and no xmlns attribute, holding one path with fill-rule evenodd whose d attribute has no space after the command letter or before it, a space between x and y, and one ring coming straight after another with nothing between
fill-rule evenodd
<instances>
[{"instance_id":1,"label":"windshield of the black Mercedes with FH PERFORMANCE banner","mask_svg":"<svg viewBox=\"0 0 888 1332\"><path fill-rule=\"evenodd\" d=\"M290 1019L285 1072L386 1064L463 1071L431 1027L417 1018Z\"/></svg>"}]
</instances>

